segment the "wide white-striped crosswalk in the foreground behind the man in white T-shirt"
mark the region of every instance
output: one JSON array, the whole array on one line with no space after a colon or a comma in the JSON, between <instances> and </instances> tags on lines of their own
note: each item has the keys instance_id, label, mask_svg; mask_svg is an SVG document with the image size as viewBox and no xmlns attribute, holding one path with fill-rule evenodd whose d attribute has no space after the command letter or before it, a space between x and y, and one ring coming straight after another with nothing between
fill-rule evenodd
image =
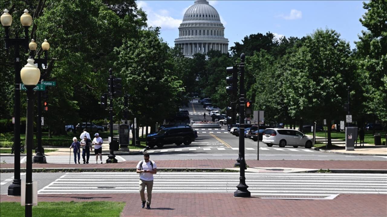
<instances>
[{"instance_id":1,"label":"wide white-striped crosswalk in the foreground behind the man in white T-shirt","mask_svg":"<svg viewBox=\"0 0 387 217\"><path fill-rule=\"evenodd\" d=\"M154 180L154 193L233 193L239 173L158 172ZM246 173L246 184L252 196L262 198L328 199L342 193L387 194L385 174ZM66 173L38 194L138 192L137 173L84 172Z\"/></svg>"}]
</instances>

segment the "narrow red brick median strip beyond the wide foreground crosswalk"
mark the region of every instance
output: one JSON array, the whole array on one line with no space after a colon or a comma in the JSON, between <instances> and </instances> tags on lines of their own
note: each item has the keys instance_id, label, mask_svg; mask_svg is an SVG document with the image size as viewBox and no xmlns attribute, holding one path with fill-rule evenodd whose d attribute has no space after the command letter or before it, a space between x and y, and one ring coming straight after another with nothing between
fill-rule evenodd
<instances>
[{"instance_id":1,"label":"narrow red brick median strip beyond the wide foreground crosswalk","mask_svg":"<svg viewBox=\"0 0 387 217\"><path fill-rule=\"evenodd\" d=\"M157 160L159 168L233 168L235 160ZM135 168L138 161L115 164L33 164L33 168ZM387 170L387 161L312 161L312 160L247 160L250 167L283 167L305 169ZM26 164L21 164L25 168ZM14 164L0 164L0 168L14 168Z\"/></svg>"}]
</instances>

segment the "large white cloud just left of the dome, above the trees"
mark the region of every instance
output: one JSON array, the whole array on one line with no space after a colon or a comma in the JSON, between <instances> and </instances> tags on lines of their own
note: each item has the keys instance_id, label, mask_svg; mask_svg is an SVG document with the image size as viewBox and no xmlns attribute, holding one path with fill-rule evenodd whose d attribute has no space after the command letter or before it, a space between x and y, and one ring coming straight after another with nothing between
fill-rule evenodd
<instances>
[{"instance_id":1,"label":"large white cloud just left of the dome, above the trees","mask_svg":"<svg viewBox=\"0 0 387 217\"><path fill-rule=\"evenodd\" d=\"M160 9L157 12L153 11L152 8L144 1L137 1L137 6L142 8L147 14L147 24L152 27L161 27L162 29L173 29L176 30L182 20L175 19L169 15L169 11Z\"/></svg>"}]
</instances>

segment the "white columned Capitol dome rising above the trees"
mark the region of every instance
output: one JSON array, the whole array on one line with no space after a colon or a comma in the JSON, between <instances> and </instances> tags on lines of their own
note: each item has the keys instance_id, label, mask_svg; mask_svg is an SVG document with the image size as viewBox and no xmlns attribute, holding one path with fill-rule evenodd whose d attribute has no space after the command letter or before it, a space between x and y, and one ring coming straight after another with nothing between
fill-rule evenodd
<instances>
[{"instance_id":1,"label":"white columned Capitol dome rising above the trees","mask_svg":"<svg viewBox=\"0 0 387 217\"><path fill-rule=\"evenodd\" d=\"M219 14L206 0L197 0L187 9L175 46L190 58L195 53L206 54L210 50L228 52L228 39L224 38Z\"/></svg>"}]
</instances>

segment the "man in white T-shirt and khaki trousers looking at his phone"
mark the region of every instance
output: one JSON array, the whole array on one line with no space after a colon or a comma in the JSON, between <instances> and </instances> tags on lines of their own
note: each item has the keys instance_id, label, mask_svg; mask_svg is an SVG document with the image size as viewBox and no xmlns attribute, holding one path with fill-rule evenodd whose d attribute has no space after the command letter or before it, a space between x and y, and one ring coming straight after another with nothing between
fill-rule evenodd
<instances>
[{"instance_id":1,"label":"man in white T-shirt and khaki trousers looking at his phone","mask_svg":"<svg viewBox=\"0 0 387 217\"><path fill-rule=\"evenodd\" d=\"M151 209L152 188L153 188L153 174L157 173L157 166L154 161L149 159L149 154L144 154L144 160L137 164L137 173L140 173L140 197L141 208ZM145 198L145 186L148 199Z\"/></svg>"}]
</instances>

